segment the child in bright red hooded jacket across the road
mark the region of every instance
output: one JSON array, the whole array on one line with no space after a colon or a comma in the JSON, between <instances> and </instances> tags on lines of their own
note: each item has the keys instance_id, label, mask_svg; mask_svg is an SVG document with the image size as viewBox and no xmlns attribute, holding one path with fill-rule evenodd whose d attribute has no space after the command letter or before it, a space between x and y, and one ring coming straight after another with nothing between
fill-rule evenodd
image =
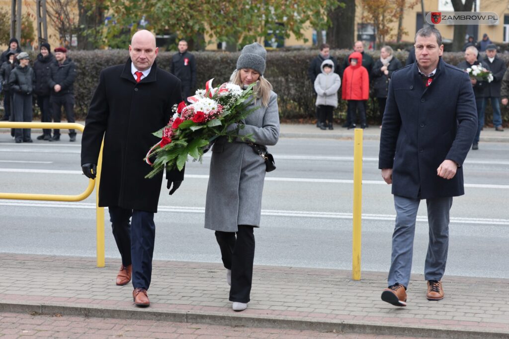
<instances>
[{"instance_id":1,"label":"child in bright red hooded jacket across the road","mask_svg":"<svg viewBox=\"0 0 509 339\"><path fill-rule=\"evenodd\" d=\"M352 114L352 124L348 129L355 128L357 111L360 115L360 128L366 128L366 112L364 101L370 96L370 77L362 66L362 54L353 52L348 57L350 66L343 73L342 98L348 101L348 112Z\"/></svg>"}]
</instances>

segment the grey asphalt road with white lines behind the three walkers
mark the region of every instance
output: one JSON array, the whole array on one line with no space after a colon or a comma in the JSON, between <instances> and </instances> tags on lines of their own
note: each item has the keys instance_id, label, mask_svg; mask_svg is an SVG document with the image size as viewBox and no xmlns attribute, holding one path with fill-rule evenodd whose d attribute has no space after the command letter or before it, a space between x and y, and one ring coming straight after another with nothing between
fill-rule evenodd
<instances>
[{"instance_id":1,"label":"grey asphalt road with white lines behind the three walkers","mask_svg":"<svg viewBox=\"0 0 509 339\"><path fill-rule=\"evenodd\" d=\"M15 144L0 134L0 191L79 194L87 186L77 143ZM36 135L34 135L34 138ZM466 194L451 210L446 274L509 278L509 152L483 143L464 164ZM265 181L255 264L351 269L353 141L282 138ZM388 271L394 225L390 186L378 170L378 142L363 147L362 270ZM220 262L203 228L210 158L188 163L173 196L161 190L154 259ZM119 258L106 211L106 257ZM428 246L426 204L418 213L413 272ZM95 256L95 194L79 203L0 200L0 252Z\"/></svg>"}]
</instances>

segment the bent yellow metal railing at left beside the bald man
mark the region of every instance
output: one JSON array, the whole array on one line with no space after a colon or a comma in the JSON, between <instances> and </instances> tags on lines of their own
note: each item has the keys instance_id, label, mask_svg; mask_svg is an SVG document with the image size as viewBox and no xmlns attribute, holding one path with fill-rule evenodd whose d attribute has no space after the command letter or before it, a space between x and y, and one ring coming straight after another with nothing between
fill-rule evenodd
<instances>
[{"instance_id":1,"label":"bent yellow metal railing at left beside the bald man","mask_svg":"<svg viewBox=\"0 0 509 339\"><path fill-rule=\"evenodd\" d=\"M37 129L74 129L83 132L84 126L74 122L11 122L0 121L0 129L3 128L37 128ZM104 267L104 208L98 206L99 202L99 177L101 175L102 145L97 164L97 180L89 179L87 189L78 195L60 194L30 194L30 193L0 193L0 199L12 200L46 200L46 201L81 201L86 199L96 186L96 229L97 229L97 267Z\"/></svg>"}]
</instances>

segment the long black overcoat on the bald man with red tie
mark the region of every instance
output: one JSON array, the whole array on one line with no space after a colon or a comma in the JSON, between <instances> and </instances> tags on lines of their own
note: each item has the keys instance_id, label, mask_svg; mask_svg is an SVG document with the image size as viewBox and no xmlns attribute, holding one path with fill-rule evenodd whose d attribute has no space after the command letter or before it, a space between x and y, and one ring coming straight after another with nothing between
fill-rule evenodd
<instances>
[{"instance_id":1,"label":"long black overcoat on the bald man with red tie","mask_svg":"<svg viewBox=\"0 0 509 339\"><path fill-rule=\"evenodd\" d=\"M104 135L99 206L157 212L162 173L146 179L152 168L143 159L181 101L180 80L156 63L139 83L130 59L101 71L81 141L81 164L97 164Z\"/></svg>"}]
</instances>

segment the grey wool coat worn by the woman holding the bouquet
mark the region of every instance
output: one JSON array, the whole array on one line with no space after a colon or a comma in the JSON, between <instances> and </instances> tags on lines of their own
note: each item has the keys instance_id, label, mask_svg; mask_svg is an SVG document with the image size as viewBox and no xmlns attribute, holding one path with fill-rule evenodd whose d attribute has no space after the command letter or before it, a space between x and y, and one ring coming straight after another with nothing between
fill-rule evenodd
<instances>
[{"instance_id":1,"label":"grey wool coat worn by the woman holding the bouquet","mask_svg":"<svg viewBox=\"0 0 509 339\"><path fill-rule=\"evenodd\" d=\"M271 91L267 107L258 106L246 119L239 135L251 135L254 142L272 146L279 139L277 95ZM219 138L212 147L209 185L205 204L205 228L237 232L238 225L260 227L265 162L252 147L241 141Z\"/></svg>"}]
</instances>

